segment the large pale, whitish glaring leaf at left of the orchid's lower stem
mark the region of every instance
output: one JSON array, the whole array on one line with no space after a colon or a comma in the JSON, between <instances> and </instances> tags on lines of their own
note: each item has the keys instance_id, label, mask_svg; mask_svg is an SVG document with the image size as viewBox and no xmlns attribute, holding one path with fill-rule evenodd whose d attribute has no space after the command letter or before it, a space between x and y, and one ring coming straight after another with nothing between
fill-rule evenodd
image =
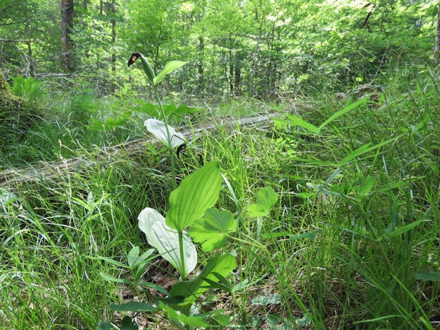
<instances>
[{"instance_id":1,"label":"large pale, whitish glaring leaf at left of the orchid's lower stem","mask_svg":"<svg viewBox=\"0 0 440 330\"><path fill-rule=\"evenodd\" d=\"M140 212L139 228L144 232L148 244L152 245L159 254L173 265L179 272L183 269L179 253L179 234L165 223L162 214L153 208L144 208ZM190 236L184 231L184 263L187 276L197 265L197 251Z\"/></svg>"}]
</instances>

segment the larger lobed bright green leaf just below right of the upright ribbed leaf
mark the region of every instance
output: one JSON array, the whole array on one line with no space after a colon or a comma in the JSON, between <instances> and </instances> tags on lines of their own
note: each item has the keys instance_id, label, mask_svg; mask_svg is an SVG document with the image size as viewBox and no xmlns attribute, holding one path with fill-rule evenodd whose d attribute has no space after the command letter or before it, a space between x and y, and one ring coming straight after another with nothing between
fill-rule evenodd
<instances>
[{"instance_id":1,"label":"larger lobed bright green leaf just below right of the upright ribbed leaf","mask_svg":"<svg viewBox=\"0 0 440 330\"><path fill-rule=\"evenodd\" d=\"M208 208L203 218L196 220L188 233L192 239L201 244L204 252L221 248L228 239L228 232L234 232L236 220L229 210L219 212Z\"/></svg>"}]
</instances>

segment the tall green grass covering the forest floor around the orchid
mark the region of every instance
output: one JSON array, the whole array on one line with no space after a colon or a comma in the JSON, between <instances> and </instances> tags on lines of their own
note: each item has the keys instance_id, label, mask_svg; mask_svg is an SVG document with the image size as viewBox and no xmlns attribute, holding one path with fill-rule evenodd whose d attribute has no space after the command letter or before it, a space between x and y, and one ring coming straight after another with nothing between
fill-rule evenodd
<instances>
[{"instance_id":1,"label":"tall green grass covering the forest floor around the orchid","mask_svg":"<svg viewBox=\"0 0 440 330\"><path fill-rule=\"evenodd\" d=\"M439 86L424 67L384 75L380 104L349 111L319 135L297 126L228 129L211 109L205 120L217 120L217 129L188 144L178 172L192 173L200 157L220 160L243 211L227 248L237 253L233 278L243 289L207 294L202 308L224 307L242 329L283 322L284 329L308 329L301 322L309 329L439 327L439 282L415 276L440 272ZM237 104L252 112L250 104ZM309 102L314 110L303 119L319 126L342 107L322 96ZM219 112L230 114L224 106ZM142 122L130 130L141 135ZM58 133L43 131L28 134L58 143ZM356 152L368 143L368 152ZM100 145L68 134L64 144L69 156L90 161L98 153L91 145ZM166 210L172 187L165 154L151 148L10 187L15 198L0 209L0 329L96 329L99 320L120 317L108 304L131 300L134 292L100 273L130 274L95 257L120 261L133 245L148 248L137 214L146 206ZM35 153L26 162L38 159ZM262 186L276 190L278 203L270 216L251 219L246 206ZM239 212L226 187L218 207ZM385 234L416 221L410 230ZM176 275L159 266L151 266L147 280ZM265 294L274 301L254 300ZM142 289L136 298L149 297ZM137 316L141 324L146 318ZM148 322L164 324L159 316Z\"/></svg>"}]
</instances>

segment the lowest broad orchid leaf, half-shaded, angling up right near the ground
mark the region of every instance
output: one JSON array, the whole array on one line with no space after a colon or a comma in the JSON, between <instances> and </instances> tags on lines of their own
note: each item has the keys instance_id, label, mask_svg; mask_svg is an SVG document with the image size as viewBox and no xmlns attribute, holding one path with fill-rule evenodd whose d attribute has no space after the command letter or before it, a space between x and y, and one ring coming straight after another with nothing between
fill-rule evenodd
<instances>
[{"instance_id":1,"label":"lowest broad orchid leaf, half-shaded, angling up right near the ground","mask_svg":"<svg viewBox=\"0 0 440 330\"><path fill-rule=\"evenodd\" d=\"M222 254L216 256L208 261L208 264L203 271L190 281L181 281L173 285L170 289L171 296L184 296L185 300L179 305L175 305L175 308L188 314L192 303L195 302L199 296L206 291L208 283L206 278L211 281L218 281L217 276L213 273L221 274L222 276L228 276L232 270L236 268L236 260L232 254Z\"/></svg>"}]
</instances>

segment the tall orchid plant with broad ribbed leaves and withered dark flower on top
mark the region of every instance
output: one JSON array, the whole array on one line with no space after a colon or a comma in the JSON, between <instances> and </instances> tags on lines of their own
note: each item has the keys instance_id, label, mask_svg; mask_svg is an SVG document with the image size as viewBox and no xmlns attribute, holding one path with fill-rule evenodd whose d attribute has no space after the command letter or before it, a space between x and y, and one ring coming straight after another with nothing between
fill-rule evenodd
<instances>
[{"instance_id":1,"label":"tall orchid plant with broad ribbed leaves and withered dark flower on top","mask_svg":"<svg viewBox=\"0 0 440 330\"><path fill-rule=\"evenodd\" d=\"M144 208L138 217L139 228L144 232L148 243L179 272L179 281L169 292L162 288L158 290L162 295L155 298L155 305L131 302L122 305L111 304L110 308L115 311L162 310L177 329L210 327L212 322L214 327L224 327L230 324L230 316L223 313L223 310L195 314L192 307L206 290L219 287L228 290L231 287L226 277L236 268L235 256L230 253L214 256L197 276L192 276L191 279L188 277L197 267L197 250L193 241L201 243L203 252L210 252L223 247L230 234L236 230L237 221L229 210L213 208L225 178L221 175L219 162L213 161L188 175L177 187L173 149L184 143L184 136L168 125L157 85L167 74L186 62L171 61L156 76L148 60L140 53L131 56L129 65L139 58L148 80L153 85L163 119L162 121L150 118L144 122L144 126L168 149L173 175L173 191L168 199L165 216L153 208ZM138 254L138 250L136 251ZM151 262L151 259L145 262ZM135 267L146 269L142 266L142 261L135 263ZM109 276L106 278L111 279ZM98 327L101 330L137 329L137 325L129 317L122 320L120 327L109 322L100 322Z\"/></svg>"}]
</instances>

